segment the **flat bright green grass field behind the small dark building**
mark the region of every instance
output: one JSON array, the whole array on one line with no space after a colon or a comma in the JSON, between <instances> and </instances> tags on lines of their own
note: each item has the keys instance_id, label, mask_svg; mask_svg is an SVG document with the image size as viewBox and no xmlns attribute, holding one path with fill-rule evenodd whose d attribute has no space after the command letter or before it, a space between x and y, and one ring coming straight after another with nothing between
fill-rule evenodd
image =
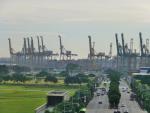
<instances>
[{"instance_id":1,"label":"flat bright green grass field behind the small dark building","mask_svg":"<svg viewBox=\"0 0 150 113\"><path fill-rule=\"evenodd\" d=\"M68 91L73 95L78 88L70 86L36 87L0 85L0 113L34 113L34 109L46 103L46 94L52 90Z\"/></svg>"}]
</instances>

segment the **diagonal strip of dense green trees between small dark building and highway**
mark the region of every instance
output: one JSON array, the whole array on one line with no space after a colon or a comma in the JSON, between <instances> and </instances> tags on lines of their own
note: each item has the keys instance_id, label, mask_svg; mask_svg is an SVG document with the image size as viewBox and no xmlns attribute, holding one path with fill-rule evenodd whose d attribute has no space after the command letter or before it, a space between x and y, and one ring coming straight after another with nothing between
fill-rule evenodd
<instances>
[{"instance_id":1,"label":"diagonal strip of dense green trees between small dark building and highway","mask_svg":"<svg viewBox=\"0 0 150 113\"><path fill-rule=\"evenodd\" d=\"M86 87L76 91L69 101L58 104L50 113L79 113L79 110L86 107L92 99L94 95L94 83L93 81L89 82Z\"/></svg>"}]
</instances>

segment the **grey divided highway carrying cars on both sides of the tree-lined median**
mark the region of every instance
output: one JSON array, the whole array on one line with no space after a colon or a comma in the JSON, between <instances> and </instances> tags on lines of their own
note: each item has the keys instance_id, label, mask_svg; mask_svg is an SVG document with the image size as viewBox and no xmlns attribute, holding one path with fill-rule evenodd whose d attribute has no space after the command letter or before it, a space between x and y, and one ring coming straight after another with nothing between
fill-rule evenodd
<instances>
[{"instance_id":1,"label":"grey divided highway carrying cars on both sides of the tree-lined median","mask_svg":"<svg viewBox=\"0 0 150 113\"><path fill-rule=\"evenodd\" d=\"M121 99L119 104L119 109L121 113L123 113L124 109L128 110L128 113L147 113L143 111L136 101L130 101L130 94L127 91L122 92L122 87L126 87L129 89L128 85L125 81L121 80L120 82L120 92ZM129 89L130 90L130 89ZM98 102L102 101L102 104ZM125 107L121 107L124 104ZM92 101L87 106L87 113L114 113L114 109L109 109L108 96L94 96Z\"/></svg>"}]
</instances>

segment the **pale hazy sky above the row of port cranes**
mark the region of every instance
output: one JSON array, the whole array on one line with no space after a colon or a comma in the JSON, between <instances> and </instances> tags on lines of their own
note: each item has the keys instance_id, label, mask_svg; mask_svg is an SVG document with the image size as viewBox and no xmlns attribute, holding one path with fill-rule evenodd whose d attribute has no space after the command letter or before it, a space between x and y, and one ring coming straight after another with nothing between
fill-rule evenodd
<instances>
[{"instance_id":1,"label":"pale hazy sky above the row of port cranes","mask_svg":"<svg viewBox=\"0 0 150 113\"><path fill-rule=\"evenodd\" d=\"M139 47L138 32L150 37L150 0L0 0L0 56L9 56L8 37L13 48L22 48L23 37L44 36L48 49L59 52L58 35L66 49L87 57L88 35L96 42L97 52L109 51L116 32L125 40L134 38Z\"/></svg>"}]
</instances>

